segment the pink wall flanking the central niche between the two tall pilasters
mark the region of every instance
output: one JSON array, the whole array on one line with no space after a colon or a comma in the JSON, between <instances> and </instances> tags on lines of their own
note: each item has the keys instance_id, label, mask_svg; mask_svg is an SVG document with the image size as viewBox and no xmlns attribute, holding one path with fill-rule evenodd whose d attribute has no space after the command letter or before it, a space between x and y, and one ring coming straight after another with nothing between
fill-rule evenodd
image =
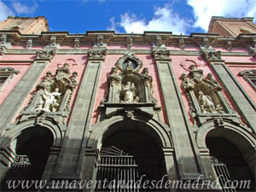
<instances>
[{"instance_id":1,"label":"pink wall flanking the central niche between the two tall pilasters","mask_svg":"<svg viewBox=\"0 0 256 192\"><path fill-rule=\"evenodd\" d=\"M92 124L96 123L96 119L98 118L97 108L98 108L98 106L101 105L102 99L106 96L106 90L108 88L107 79L108 79L108 75L110 74L111 67L114 67L114 64L116 63L116 61L118 61L119 58L122 56L123 55L107 55L106 56L106 59L102 66L102 74L100 77L100 82L99 82L98 90L96 93L96 103L95 103L95 107L94 107ZM158 101L158 105L160 107L162 107L161 116L162 116L163 121L167 124L166 108L164 106L164 101L162 99L163 97L162 97L162 93L161 93L161 89L160 89L159 76L157 73L157 69L156 69L154 60L151 55L136 55L136 56L141 61L143 61L143 67L148 67L149 75L151 75L153 78L152 85L153 85L153 90L154 90L154 94L153 94L154 98ZM140 72L142 72L142 69Z\"/></svg>"}]
</instances>

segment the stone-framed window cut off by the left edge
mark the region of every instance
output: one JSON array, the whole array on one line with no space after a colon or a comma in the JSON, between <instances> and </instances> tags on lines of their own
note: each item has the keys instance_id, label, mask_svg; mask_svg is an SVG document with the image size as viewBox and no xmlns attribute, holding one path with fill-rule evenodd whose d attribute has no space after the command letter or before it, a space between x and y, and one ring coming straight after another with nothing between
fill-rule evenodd
<instances>
[{"instance_id":1,"label":"stone-framed window cut off by the left edge","mask_svg":"<svg viewBox=\"0 0 256 192\"><path fill-rule=\"evenodd\" d=\"M13 79L14 74L19 73L12 67L0 67L0 91Z\"/></svg>"}]
</instances>

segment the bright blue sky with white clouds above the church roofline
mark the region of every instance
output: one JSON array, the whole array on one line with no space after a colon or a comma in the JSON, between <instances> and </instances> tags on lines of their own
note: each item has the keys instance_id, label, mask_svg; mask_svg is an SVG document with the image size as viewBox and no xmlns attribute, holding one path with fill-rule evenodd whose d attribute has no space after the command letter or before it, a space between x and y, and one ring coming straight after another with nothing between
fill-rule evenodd
<instances>
[{"instance_id":1,"label":"bright blue sky with white clouds above the church roofline","mask_svg":"<svg viewBox=\"0 0 256 192\"><path fill-rule=\"evenodd\" d=\"M44 15L50 31L207 32L212 15L256 18L256 0L0 0L8 15ZM254 20L255 21L255 20Z\"/></svg>"}]
</instances>

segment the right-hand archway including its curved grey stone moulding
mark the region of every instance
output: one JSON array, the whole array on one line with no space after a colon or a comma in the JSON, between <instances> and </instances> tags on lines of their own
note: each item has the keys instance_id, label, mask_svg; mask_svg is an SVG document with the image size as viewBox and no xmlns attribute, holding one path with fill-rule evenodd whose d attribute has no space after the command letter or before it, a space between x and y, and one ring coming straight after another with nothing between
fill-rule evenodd
<instances>
[{"instance_id":1,"label":"right-hand archway including its curved grey stone moulding","mask_svg":"<svg viewBox=\"0 0 256 192\"><path fill-rule=\"evenodd\" d=\"M211 172L209 168L212 166L222 187L234 187L228 180L248 181L251 189L235 185L236 190L255 190L256 138L247 128L225 120L223 125L208 122L197 132L196 141L199 148L207 151L207 155L204 154L204 158L207 156L204 164L207 172Z\"/></svg>"}]
</instances>

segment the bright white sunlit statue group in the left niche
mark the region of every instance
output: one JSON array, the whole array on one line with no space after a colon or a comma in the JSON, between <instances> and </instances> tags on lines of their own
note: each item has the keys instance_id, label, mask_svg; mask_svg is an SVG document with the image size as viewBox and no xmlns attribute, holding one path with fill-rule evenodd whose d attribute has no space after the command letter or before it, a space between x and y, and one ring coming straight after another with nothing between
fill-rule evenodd
<instances>
[{"instance_id":1,"label":"bright white sunlit statue group in the left niche","mask_svg":"<svg viewBox=\"0 0 256 192\"><path fill-rule=\"evenodd\" d=\"M57 99L59 99L60 96L61 93L59 92L59 88L56 88L53 92L44 90L44 93L42 94L42 101L39 102L36 111L55 112L59 107Z\"/></svg>"}]
</instances>

